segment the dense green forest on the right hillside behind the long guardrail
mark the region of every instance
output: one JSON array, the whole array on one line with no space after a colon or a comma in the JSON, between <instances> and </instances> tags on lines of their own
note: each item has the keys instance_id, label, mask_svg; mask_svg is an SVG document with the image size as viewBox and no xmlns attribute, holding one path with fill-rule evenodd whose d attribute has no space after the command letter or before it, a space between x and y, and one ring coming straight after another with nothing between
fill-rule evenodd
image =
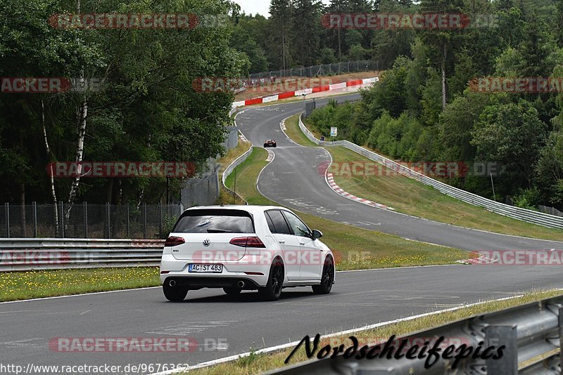
<instances>
[{"instance_id":1,"label":"dense green forest on the right hillside behind the long guardrail","mask_svg":"<svg viewBox=\"0 0 563 375\"><path fill-rule=\"evenodd\" d=\"M381 1L384 11L387 2ZM479 77L563 77L563 1L422 0L405 12L439 8L494 15L460 30L378 31L373 58L393 45L390 69L362 101L316 110L312 126L405 162L494 165L496 199L563 209L563 93L483 92ZM476 12L478 10L478 12ZM388 50L387 50L388 51ZM501 90L502 91L502 90ZM526 91L526 90L525 90ZM533 91L533 90L531 90ZM541 90L536 90L541 91ZM491 176L448 183L493 199Z\"/></svg>"}]
</instances>

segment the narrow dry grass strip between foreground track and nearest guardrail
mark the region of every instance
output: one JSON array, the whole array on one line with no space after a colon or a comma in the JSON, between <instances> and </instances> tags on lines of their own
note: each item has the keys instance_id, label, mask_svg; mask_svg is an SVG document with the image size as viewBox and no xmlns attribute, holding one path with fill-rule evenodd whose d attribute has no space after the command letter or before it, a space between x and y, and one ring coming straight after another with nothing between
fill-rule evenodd
<instances>
[{"instance_id":1,"label":"narrow dry grass strip between foreground track and nearest guardrail","mask_svg":"<svg viewBox=\"0 0 563 375\"><path fill-rule=\"evenodd\" d=\"M489 301L481 303L479 305L473 305L468 308L460 308L459 310L455 311L428 315L426 317L419 317L415 320L398 322L395 324L378 327L377 329L362 331L358 334L354 334L353 336L356 336L360 343L374 343L374 341L378 341L378 339L381 338L386 339L393 335L396 335L398 337L405 336L416 331L431 329L432 327L439 327L443 324L466 319L467 317L472 317L473 315L491 313L493 311L512 308L517 305L524 305L526 303L540 301L545 298L560 296L561 294L561 290L527 292L526 294L517 298L511 298L505 301ZM305 336L305 334L308 334L312 337L317 333L322 334L322 332L303 332L303 336ZM350 340L348 339L348 336L350 335L322 338L319 348L322 348L325 345L338 346L341 344L344 344L344 346L348 348L348 346L350 346ZM286 360L292 350L293 348L288 348L270 354L253 353L248 357L241 357L238 360L234 360L232 362L225 362L222 364L217 364L213 367L191 370L189 371L189 374L261 374L264 371L270 371L273 369L288 366L287 364L284 364L284 360ZM289 364L296 364L308 360L304 352L305 350L301 348L301 350L299 350L296 355L291 358L291 362Z\"/></svg>"}]
</instances>

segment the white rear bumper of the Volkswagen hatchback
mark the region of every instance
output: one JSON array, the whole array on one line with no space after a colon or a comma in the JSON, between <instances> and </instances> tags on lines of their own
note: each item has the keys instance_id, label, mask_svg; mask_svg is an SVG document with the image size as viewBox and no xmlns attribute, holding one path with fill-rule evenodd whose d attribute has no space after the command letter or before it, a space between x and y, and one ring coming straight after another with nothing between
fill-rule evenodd
<instances>
[{"instance_id":1,"label":"white rear bumper of the Volkswagen hatchback","mask_svg":"<svg viewBox=\"0 0 563 375\"><path fill-rule=\"evenodd\" d=\"M243 281L243 289L256 289L265 287L270 273L270 265L245 264L242 261L213 261L213 264L222 264L222 273L189 273L188 265L202 263L197 261L178 260L172 254L163 254L160 262L160 282L164 284L167 279L175 279L177 285L193 286L194 289L232 287L237 282ZM162 273L162 272L167 273ZM247 272L261 273L262 275L248 275ZM190 288L191 289L191 288Z\"/></svg>"}]
</instances>

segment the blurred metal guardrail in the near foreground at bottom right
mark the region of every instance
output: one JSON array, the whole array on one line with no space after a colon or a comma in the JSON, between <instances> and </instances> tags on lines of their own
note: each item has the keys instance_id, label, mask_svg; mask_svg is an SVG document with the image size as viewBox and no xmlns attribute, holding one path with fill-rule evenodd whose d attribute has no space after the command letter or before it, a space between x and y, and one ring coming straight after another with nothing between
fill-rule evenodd
<instances>
[{"instance_id":1,"label":"blurred metal guardrail in the near foreground at bottom right","mask_svg":"<svg viewBox=\"0 0 563 375\"><path fill-rule=\"evenodd\" d=\"M284 369L270 371L267 374L561 374L561 348L563 346L563 296L501 310L496 313L474 315L458 322L442 327L419 331L415 334L402 336L398 341L407 340L405 350L414 345L421 348L425 341L430 341L429 348L434 346L438 338L444 337L440 346L440 359L429 369L424 368L426 358L409 360L406 357L388 360L376 357L372 360L345 360L342 355L331 359L330 355L322 360L312 360L296 364ZM350 340L343 342L346 348L352 346ZM382 344L385 341L369 343L369 346ZM434 341L434 342L433 342ZM489 346L495 349L490 353L498 354L497 349L505 346L502 357L483 360L470 355L452 369L453 360L443 359L447 346L460 348L476 348L481 345L481 353ZM361 348L364 344L358 346ZM319 350L321 348L319 347ZM395 346L398 350L398 346ZM303 346L299 349L304 352ZM329 354L332 352L330 351ZM417 353L421 353L418 350ZM459 352L458 352L459 353ZM404 353L403 353L404 354ZM457 353L453 353L455 356ZM316 355L316 353L315 353Z\"/></svg>"}]
</instances>

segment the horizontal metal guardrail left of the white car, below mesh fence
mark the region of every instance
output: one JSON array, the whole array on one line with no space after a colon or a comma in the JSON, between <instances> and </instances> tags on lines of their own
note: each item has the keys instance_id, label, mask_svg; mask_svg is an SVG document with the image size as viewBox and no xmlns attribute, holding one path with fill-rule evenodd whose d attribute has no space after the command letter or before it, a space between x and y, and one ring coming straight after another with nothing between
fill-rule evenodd
<instances>
[{"instance_id":1,"label":"horizontal metal guardrail left of the white car, below mesh fence","mask_svg":"<svg viewBox=\"0 0 563 375\"><path fill-rule=\"evenodd\" d=\"M0 239L0 272L160 265L163 239Z\"/></svg>"}]
</instances>

